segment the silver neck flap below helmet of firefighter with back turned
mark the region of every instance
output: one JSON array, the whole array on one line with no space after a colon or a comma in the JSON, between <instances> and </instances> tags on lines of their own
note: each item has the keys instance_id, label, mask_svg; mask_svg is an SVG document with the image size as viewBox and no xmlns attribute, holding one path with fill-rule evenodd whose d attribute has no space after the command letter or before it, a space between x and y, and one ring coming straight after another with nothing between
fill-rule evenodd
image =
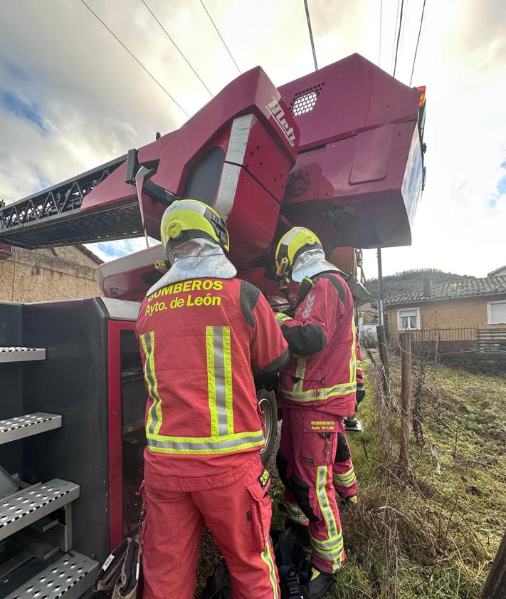
<instances>
[{"instance_id":1,"label":"silver neck flap below helmet of firefighter with back turned","mask_svg":"<svg viewBox=\"0 0 506 599\"><path fill-rule=\"evenodd\" d=\"M188 281L190 278L233 278L236 267L225 256L218 244L209 239L190 239L175 247L169 256L171 268L146 293L155 291L171 283Z\"/></svg>"}]
</instances>

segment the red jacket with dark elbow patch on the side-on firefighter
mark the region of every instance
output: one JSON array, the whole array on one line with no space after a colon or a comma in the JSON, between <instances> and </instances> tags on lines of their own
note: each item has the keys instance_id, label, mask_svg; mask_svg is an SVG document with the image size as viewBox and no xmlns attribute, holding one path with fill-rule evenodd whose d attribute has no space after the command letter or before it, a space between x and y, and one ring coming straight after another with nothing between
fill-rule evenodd
<instances>
[{"instance_id":1,"label":"red jacket with dark elbow patch on the side-on firefighter","mask_svg":"<svg viewBox=\"0 0 506 599\"><path fill-rule=\"evenodd\" d=\"M294 318L276 315L292 354L280 375L279 404L352 416L357 390L352 294L337 273L312 280Z\"/></svg>"}]
</instances>

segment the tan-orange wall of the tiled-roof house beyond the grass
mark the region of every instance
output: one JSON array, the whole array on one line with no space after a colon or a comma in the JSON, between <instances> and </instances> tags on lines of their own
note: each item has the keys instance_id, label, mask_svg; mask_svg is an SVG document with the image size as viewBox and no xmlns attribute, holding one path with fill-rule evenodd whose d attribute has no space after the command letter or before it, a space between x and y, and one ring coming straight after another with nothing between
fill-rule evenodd
<instances>
[{"instance_id":1,"label":"tan-orange wall of the tiled-roof house beyond the grass","mask_svg":"<svg viewBox=\"0 0 506 599\"><path fill-rule=\"evenodd\" d=\"M505 328L504 324L490 325L487 322L487 302L505 300L503 296L476 297L413 303L411 305L391 306L388 308L391 335L396 337L397 311L405 308L420 309L421 328L446 328L446 327L475 327L479 328Z\"/></svg>"}]
</instances>

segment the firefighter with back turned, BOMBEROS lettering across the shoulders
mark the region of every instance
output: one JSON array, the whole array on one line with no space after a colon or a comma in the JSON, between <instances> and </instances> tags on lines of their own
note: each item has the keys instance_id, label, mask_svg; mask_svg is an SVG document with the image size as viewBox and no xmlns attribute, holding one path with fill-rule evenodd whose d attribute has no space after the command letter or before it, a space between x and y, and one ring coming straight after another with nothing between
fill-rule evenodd
<instances>
[{"instance_id":1,"label":"firefighter with back turned, BOMBEROS lettering across the shoulders","mask_svg":"<svg viewBox=\"0 0 506 599\"><path fill-rule=\"evenodd\" d=\"M144 599L191 599L204 524L234 599L278 599L270 479L253 371L273 374L288 349L267 301L236 278L221 217L196 200L162 219L172 264L137 320L146 409L142 496Z\"/></svg>"}]
</instances>

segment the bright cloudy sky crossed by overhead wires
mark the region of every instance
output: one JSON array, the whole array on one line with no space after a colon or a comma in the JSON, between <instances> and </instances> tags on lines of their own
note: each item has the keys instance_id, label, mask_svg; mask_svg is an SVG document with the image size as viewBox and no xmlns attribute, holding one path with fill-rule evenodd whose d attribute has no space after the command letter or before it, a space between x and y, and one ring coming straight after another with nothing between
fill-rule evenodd
<instances>
[{"instance_id":1,"label":"bright cloudy sky crossed by overhead wires","mask_svg":"<svg viewBox=\"0 0 506 599\"><path fill-rule=\"evenodd\" d=\"M209 92L141 0L86 0L186 113ZM238 71L200 0L146 0L211 93ZM302 0L204 0L241 71L312 70ZM404 1L396 77L409 84L423 0ZM399 3L310 0L319 66L359 52L389 73ZM179 127L186 115L80 0L0 0L0 197L12 202ZM506 2L426 0L413 85L427 86L427 184L413 245L384 273L485 276L506 264ZM106 259L142 240L98 244ZM368 251L366 274L376 274Z\"/></svg>"}]
</instances>

